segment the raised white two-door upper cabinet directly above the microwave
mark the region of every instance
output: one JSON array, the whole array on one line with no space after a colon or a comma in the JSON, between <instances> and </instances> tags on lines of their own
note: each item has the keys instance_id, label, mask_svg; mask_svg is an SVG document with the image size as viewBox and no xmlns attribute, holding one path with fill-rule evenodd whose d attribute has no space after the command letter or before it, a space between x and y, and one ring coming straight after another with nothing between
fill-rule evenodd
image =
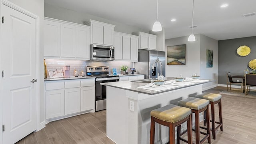
<instances>
[{"instance_id":1,"label":"raised white two-door upper cabinet directly above the microwave","mask_svg":"<svg viewBox=\"0 0 256 144\"><path fill-rule=\"evenodd\" d=\"M91 44L113 46L114 45L114 25L90 20Z\"/></svg>"}]
</instances>

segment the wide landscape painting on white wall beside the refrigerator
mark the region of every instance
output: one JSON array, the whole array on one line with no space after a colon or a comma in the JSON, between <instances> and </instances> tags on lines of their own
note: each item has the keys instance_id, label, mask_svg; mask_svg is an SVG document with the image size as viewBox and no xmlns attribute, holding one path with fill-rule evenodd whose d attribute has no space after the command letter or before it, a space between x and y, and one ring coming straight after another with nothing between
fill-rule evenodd
<instances>
[{"instance_id":1,"label":"wide landscape painting on white wall beside the refrigerator","mask_svg":"<svg viewBox=\"0 0 256 144\"><path fill-rule=\"evenodd\" d=\"M186 44L167 46L167 65L186 65Z\"/></svg>"}]
</instances>

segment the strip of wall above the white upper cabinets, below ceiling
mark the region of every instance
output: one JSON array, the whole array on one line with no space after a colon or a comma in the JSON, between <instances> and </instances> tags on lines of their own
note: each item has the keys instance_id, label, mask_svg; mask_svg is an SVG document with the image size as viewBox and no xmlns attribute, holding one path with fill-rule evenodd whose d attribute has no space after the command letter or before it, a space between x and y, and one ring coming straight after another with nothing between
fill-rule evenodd
<instances>
[{"instance_id":1,"label":"strip of wall above the white upper cabinets, below ceiling","mask_svg":"<svg viewBox=\"0 0 256 144\"><path fill-rule=\"evenodd\" d=\"M49 17L49 18L55 18L58 20L65 20L68 22L74 22L74 23L78 23L78 24L84 24L84 22L88 22L90 21L90 19L92 20L97 20L100 22L105 22L108 24L113 24L116 27L114 28L114 30L116 32L123 32L126 34L132 34L132 32L146 32L148 33L148 30L143 30L143 29L139 29L137 27L134 26L128 26L126 24L121 24L118 22L113 22L111 20L107 20L104 18L100 18L97 16L93 16L90 14L86 14L86 13L82 13L82 12L76 12L74 10L68 10L66 8L62 8L62 7L58 7L58 6L53 6L50 4L46 4L44 3L44 16L45 17Z\"/></svg>"}]
</instances>

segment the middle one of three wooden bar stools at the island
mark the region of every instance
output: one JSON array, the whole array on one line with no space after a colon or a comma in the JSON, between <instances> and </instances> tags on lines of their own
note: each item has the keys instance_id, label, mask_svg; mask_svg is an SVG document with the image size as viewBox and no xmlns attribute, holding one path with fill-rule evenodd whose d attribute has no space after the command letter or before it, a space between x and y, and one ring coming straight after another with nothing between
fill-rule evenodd
<instances>
[{"instance_id":1,"label":"middle one of three wooden bar stools at the island","mask_svg":"<svg viewBox=\"0 0 256 144\"><path fill-rule=\"evenodd\" d=\"M208 139L208 143L209 144L211 143L209 103L210 103L209 100L205 100L201 98L193 98L193 97L178 101L179 106L190 108L192 110L192 113L195 113L196 144L202 144L206 140L206 138ZM200 124L199 124L200 122L199 114L200 112L204 112L204 111L206 111L207 133L200 131ZM202 138L202 140L200 140L200 133L205 135L204 138ZM180 139L180 140L183 140L183 139Z\"/></svg>"}]
</instances>

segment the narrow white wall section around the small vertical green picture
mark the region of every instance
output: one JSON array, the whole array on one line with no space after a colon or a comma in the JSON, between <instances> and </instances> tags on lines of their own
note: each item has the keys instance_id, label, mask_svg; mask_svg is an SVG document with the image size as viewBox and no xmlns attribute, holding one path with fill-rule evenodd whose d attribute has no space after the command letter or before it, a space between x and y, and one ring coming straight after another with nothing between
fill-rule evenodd
<instances>
[{"instance_id":1,"label":"narrow white wall section around the small vertical green picture","mask_svg":"<svg viewBox=\"0 0 256 144\"><path fill-rule=\"evenodd\" d=\"M213 67L206 68L206 50L213 50ZM216 80L204 84L204 88L218 84L218 40L200 34L200 76L202 79Z\"/></svg>"}]
</instances>

